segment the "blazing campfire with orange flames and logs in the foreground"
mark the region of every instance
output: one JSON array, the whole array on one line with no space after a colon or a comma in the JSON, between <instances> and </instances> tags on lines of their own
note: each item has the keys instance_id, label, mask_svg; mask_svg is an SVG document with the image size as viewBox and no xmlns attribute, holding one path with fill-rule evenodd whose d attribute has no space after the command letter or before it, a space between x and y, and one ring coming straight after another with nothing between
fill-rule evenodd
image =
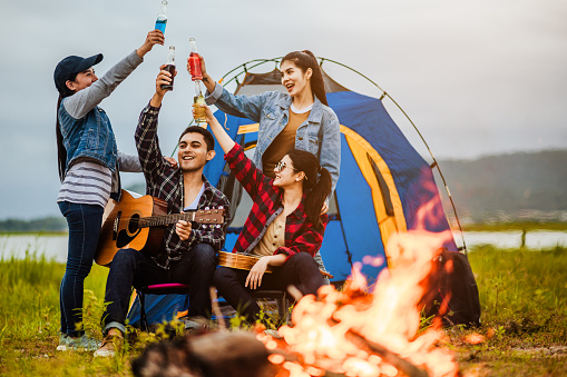
<instances>
[{"instance_id":1,"label":"blazing campfire with orange flames and logs in the foreground","mask_svg":"<svg viewBox=\"0 0 567 377\"><path fill-rule=\"evenodd\" d=\"M343 289L324 286L317 297L300 298L293 325L282 326L278 336L224 329L188 336L176 346L187 355L185 376L458 376L440 321L420 330L423 281L447 237L452 236L424 230L395 235L388 245L390 266L375 285L366 286L356 265ZM139 373L150 369L135 373L166 375Z\"/></svg>"}]
</instances>

